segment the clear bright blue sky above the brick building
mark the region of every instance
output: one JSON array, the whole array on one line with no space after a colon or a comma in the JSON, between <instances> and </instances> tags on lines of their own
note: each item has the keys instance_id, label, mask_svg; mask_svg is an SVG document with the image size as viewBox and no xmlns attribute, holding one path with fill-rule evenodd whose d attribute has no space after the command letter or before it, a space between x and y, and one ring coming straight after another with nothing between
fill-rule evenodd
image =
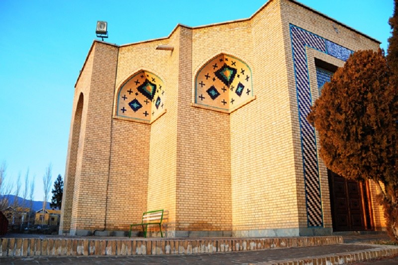
<instances>
[{"instance_id":1,"label":"clear bright blue sky above the brick building","mask_svg":"<svg viewBox=\"0 0 398 265\"><path fill-rule=\"evenodd\" d=\"M178 23L198 26L247 18L266 0L0 0L0 162L8 181L29 168L34 199L43 199L42 176L65 174L74 85L108 21L118 45L165 37ZM393 0L300 0L382 42L387 49ZM51 198L51 193L50 193Z\"/></svg>"}]
</instances>

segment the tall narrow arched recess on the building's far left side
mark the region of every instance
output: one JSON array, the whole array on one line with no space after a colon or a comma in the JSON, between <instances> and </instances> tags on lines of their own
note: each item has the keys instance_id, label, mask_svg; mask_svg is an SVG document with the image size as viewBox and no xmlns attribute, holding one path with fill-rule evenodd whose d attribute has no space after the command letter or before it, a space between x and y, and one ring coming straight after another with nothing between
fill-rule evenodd
<instances>
[{"instance_id":1,"label":"tall narrow arched recess on the building's far left side","mask_svg":"<svg viewBox=\"0 0 398 265\"><path fill-rule=\"evenodd\" d=\"M72 206L75 190L76 166L78 160L79 141L82 127L84 95L80 93L76 105L75 117L72 125L72 138L67 158L65 172L64 193L62 196L62 214L60 220L60 232L68 233L71 229Z\"/></svg>"}]
</instances>

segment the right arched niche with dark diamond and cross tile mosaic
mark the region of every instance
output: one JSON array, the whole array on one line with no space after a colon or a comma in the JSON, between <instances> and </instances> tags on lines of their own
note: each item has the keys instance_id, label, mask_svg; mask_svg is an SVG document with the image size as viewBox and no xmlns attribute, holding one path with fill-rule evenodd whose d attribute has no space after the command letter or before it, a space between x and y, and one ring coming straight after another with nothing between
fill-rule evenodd
<instances>
[{"instance_id":1,"label":"right arched niche with dark diamond and cross tile mosaic","mask_svg":"<svg viewBox=\"0 0 398 265\"><path fill-rule=\"evenodd\" d=\"M219 54L195 77L195 103L231 112L254 98L252 71L242 60Z\"/></svg>"}]
</instances>

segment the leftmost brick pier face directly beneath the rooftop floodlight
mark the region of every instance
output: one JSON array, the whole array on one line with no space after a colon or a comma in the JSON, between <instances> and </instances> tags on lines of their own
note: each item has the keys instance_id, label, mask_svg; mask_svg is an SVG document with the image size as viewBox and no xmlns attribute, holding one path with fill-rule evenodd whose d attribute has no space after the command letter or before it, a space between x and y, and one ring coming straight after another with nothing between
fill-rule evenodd
<instances>
[{"instance_id":1,"label":"leftmost brick pier face directly beneath the rooftop floodlight","mask_svg":"<svg viewBox=\"0 0 398 265\"><path fill-rule=\"evenodd\" d=\"M72 231L102 229L104 226L117 47L96 42L91 56L92 72L87 75L90 86L77 84L85 101L77 154Z\"/></svg>"}]
</instances>

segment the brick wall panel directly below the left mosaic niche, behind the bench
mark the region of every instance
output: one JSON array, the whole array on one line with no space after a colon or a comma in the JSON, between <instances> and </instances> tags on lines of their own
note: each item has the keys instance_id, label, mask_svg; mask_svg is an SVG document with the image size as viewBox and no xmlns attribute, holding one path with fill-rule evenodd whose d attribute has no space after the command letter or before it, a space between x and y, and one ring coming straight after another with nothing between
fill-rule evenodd
<instances>
[{"instance_id":1,"label":"brick wall panel directly below the left mosaic niche, behind the bench","mask_svg":"<svg viewBox=\"0 0 398 265\"><path fill-rule=\"evenodd\" d=\"M106 230L128 231L146 211L150 126L112 120Z\"/></svg>"}]
</instances>

